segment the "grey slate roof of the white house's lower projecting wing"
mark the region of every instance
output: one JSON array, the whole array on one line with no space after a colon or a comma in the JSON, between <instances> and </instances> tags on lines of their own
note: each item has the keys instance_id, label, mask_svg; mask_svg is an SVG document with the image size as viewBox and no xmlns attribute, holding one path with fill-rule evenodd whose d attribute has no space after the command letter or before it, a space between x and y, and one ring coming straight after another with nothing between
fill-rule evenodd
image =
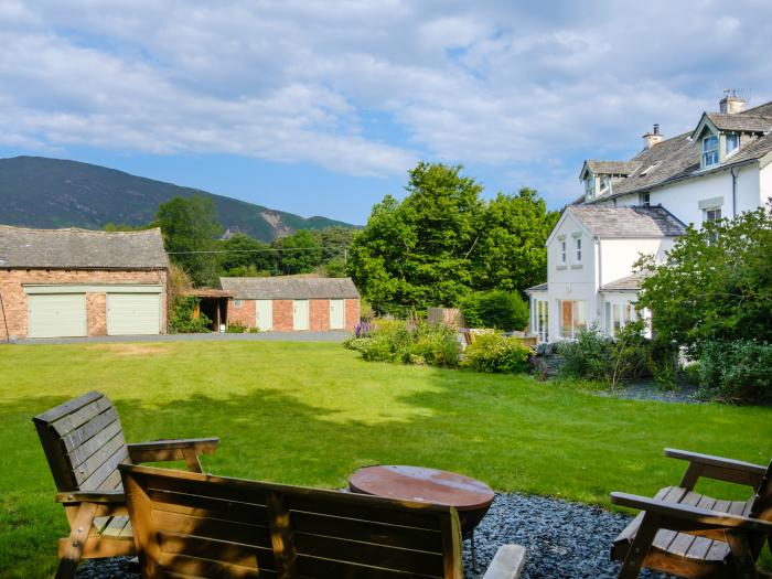
<instances>
[{"instance_id":1,"label":"grey slate roof of the white house's lower projecting wing","mask_svg":"<svg viewBox=\"0 0 772 579\"><path fill-rule=\"evenodd\" d=\"M598 237L642 239L683 235L686 226L665 207L569 205L571 213Z\"/></svg>"}]
</instances>

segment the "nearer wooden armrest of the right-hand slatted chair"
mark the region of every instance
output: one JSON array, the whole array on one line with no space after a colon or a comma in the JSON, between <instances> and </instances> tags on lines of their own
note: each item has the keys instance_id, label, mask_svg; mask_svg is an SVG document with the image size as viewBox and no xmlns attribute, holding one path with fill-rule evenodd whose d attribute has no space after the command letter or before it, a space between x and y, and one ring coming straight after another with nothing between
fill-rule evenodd
<instances>
[{"instance_id":1,"label":"nearer wooden armrest of the right-hand slatted chair","mask_svg":"<svg viewBox=\"0 0 772 579\"><path fill-rule=\"evenodd\" d=\"M762 533L772 532L772 523L759 518L751 518L742 515L710 511L699 506L685 505L680 503L666 503L658 498L650 498L628 493L611 493L611 502L620 506L629 506L654 513L662 517L662 528L673 530L699 530L711 528L735 528L738 530L759 530ZM674 521L682 521L683 524L673 524Z\"/></svg>"}]
</instances>

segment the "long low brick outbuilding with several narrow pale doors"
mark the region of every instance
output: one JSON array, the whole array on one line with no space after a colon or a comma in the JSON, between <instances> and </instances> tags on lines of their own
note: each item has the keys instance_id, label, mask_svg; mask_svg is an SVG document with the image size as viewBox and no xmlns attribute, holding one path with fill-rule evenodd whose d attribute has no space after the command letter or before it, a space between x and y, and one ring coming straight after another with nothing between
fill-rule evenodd
<instances>
[{"instance_id":1,"label":"long low brick outbuilding with several narrow pale doors","mask_svg":"<svg viewBox=\"0 0 772 579\"><path fill-rule=\"evenodd\" d=\"M360 292L351 278L219 278L232 293L228 323L260 331L352 331L360 321Z\"/></svg>"}]
</instances>

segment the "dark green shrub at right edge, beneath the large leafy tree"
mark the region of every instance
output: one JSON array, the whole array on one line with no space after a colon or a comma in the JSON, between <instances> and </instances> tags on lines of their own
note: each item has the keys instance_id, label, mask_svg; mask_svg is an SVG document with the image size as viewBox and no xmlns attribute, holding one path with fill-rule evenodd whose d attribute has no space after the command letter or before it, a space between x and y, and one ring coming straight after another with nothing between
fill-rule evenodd
<instances>
[{"instance_id":1,"label":"dark green shrub at right edge, beneath the large leafy tree","mask_svg":"<svg viewBox=\"0 0 772 579\"><path fill-rule=\"evenodd\" d=\"M733 403L772 400L772 344L754 340L705 342L699 358L700 393Z\"/></svg>"}]
</instances>

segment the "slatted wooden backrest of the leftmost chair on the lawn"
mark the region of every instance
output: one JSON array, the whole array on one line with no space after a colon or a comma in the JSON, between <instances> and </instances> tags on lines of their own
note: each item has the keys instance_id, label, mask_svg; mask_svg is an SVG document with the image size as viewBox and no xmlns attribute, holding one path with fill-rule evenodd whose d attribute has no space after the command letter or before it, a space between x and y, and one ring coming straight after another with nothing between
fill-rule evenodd
<instances>
[{"instance_id":1,"label":"slatted wooden backrest of the leftmost chair on the lawn","mask_svg":"<svg viewBox=\"0 0 772 579\"><path fill-rule=\"evenodd\" d=\"M118 464L128 461L129 453L107 396L89 392L32 421L60 492L120 489Z\"/></svg>"}]
</instances>

